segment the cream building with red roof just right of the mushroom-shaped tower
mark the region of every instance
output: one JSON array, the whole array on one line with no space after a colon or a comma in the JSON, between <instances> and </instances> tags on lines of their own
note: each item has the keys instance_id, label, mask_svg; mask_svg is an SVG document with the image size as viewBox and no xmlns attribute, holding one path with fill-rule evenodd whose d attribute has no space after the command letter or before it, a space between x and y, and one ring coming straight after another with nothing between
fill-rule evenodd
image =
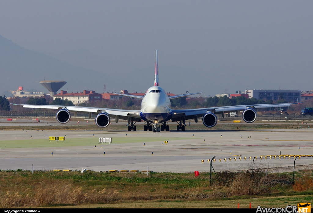
<instances>
[{"instance_id":1,"label":"cream building with red roof just right of the mushroom-shaped tower","mask_svg":"<svg viewBox=\"0 0 313 213\"><path fill-rule=\"evenodd\" d=\"M84 102L90 102L90 101L101 101L102 95L99 93L96 93L95 91L90 90L84 90L84 92L72 92L68 93L67 91L61 90L60 93L55 94L53 96L53 100L56 98L61 98L62 100L69 100L73 102L73 104L79 104Z\"/></svg>"}]
</instances>

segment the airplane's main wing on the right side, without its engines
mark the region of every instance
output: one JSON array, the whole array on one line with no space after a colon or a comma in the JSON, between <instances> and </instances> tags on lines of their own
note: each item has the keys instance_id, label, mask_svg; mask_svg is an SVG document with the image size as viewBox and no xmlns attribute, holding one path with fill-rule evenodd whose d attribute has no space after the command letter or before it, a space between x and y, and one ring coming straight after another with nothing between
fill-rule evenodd
<instances>
[{"instance_id":1,"label":"airplane's main wing on the right side, without its engines","mask_svg":"<svg viewBox=\"0 0 313 213\"><path fill-rule=\"evenodd\" d=\"M302 103L302 102L300 102ZM285 103L285 104L255 104L255 105L238 105L238 106L217 106L209 108L199 108L199 109L185 109L185 110L172 110L172 121L178 121L180 117L184 116L186 120L193 119L195 115L198 117L204 116L207 112L213 112L214 114L244 111L245 109L252 108L270 108L270 107L285 107L290 106L290 104L298 103ZM177 118L177 119L176 119Z\"/></svg>"}]
</instances>

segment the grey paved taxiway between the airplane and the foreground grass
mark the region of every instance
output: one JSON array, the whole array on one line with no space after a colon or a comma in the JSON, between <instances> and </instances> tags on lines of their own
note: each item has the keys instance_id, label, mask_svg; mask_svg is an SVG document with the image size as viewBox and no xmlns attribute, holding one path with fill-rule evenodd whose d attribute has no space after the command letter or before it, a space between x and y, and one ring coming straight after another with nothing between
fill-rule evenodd
<instances>
[{"instance_id":1,"label":"grey paved taxiway between the airplane and the foreground grass","mask_svg":"<svg viewBox=\"0 0 313 213\"><path fill-rule=\"evenodd\" d=\"M208 159L216 156L216 170L229 168L248 169L250 156L258 156L259 165L291 166L294 159L259 159L260 155L312 155L313 129L261 130L261 131L185 131L185 132L128 132L128 131L0 131L0 169L52 170L71 169L94 171L149 170L163 172L209 171ZM127 134L127 136L126 136ZM162 134L162 136L161 136ZM47 147L27 147L31 140L47 140ZM77 140L86 139L80 146L55 147L45 136L64 136ZM222 136L221 136L222 135ZM250 138L251 136L251 138ZM98 144L99 137L112 137L113 144ZM248 138L249 137L249 138ZM117 142L123 139L124 142ZM171 138L173 139L171 141ZM174 140L175 138L175 140ZM181 138L181 140L177 140ZM28 140L26 140L28 139ZM116 140L115 140L116 139ZM138 140L137 140L138 139ZM167 145L162 142L169 141ZM114 142L116 141L116 143ZM126 141L126 142L125 142ZM140 141L140 142L137 142ZM17 148L6 148L9 144ZM73 141L71 143L74 143ZM53 144L53 145L52 145ZM145 146L144 146L145 144ZM96 146L96 148L95 148ZM8 146L9 147L9 146ZM299 150L300 147L300 150ZM53 152L53 155L51 155ZM104 155L105 152L105 155ZM153 155L152 155L153 152ZM234 161L233 155L241 155ZM244 157L247 157L244 161ZM222 159L219 162L219 158ZM227 161L224 161L224 158ZM232 158L229 162L229 158ZM204 160L204 163L201 161ZM312 157L301 157L297 164L312 164Z\"/></svg>"}]
</instances>

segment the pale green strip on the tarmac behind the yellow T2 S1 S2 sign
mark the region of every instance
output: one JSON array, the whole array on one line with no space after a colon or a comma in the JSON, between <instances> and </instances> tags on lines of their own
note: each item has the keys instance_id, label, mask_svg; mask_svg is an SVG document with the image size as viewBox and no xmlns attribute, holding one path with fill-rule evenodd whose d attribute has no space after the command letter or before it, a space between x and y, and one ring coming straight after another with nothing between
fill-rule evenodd
<instances>
[{"instance_id":1,"label":"pale green strip on the tarmac behind the yellow T2 S1 S2 sign","mask_svg":"<svg viewBox=\"0 0 313 213\"><path fill-rule=\"evenodd\" d=\"M184 137L167 137L167 140L176 141L176 140L188 140L188 139L197 139L197 138L184 138ZM138 142L154 142L154 141L164 141L162 137L115 137L113 139L114 144L123 144L123 143L138 143ZM45 139L31 139L31 140L7 140L0 141L0 147L5 147L6 149L10 148L32 148L32 147L65 147L65 146L99 146L98 137L89 137L89 138L66 138L65 141L59 142L49 142L49 136Z\"/></svg>"}]
</instances>

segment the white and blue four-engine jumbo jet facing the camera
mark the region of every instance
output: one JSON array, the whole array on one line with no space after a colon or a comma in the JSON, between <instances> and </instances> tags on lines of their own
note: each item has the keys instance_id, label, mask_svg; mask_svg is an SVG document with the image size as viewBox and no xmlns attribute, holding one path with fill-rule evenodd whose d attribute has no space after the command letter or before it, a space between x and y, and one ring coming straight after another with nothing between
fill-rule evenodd
<instances>
[{"instance_id":1,"label":"white and blue four-engine jumbo jet facing the camera","mask_svg":"<svg viewBox=\"0 0 313 213\"><path fill-rule=\"evenodd\" d=\"M221 107L209 107L200 109L185 109L185 110L173 110L171 109L170 99L180 98L185 96L191 96L197 93L190 93L184 95L177 95L168 97L166 92L162 87L159 86L158 79L158 61L157 61L157 51L156 51L156 67L154 75L154 86L150 87L144 97L120 94L122 96L128 96L133 98L142 99L141 110L121 110L121 109L106 109L106 108L96 108L96 107L83 107L83 106L53 106L53 105L25 105L25 104L13 104L13 105L23 105L25 108L41 108L41 109L59 109L56 113L56 120L61 124L66 124L71 119L71 113L74 116L80 113L96 115L95 123L99 127L107 127L110 124L110 119L115 119L117 123L119 119L127 120L128 131L136 131L136 122L144 121L144 131L169 131L169 126L167 125L169 121L177 122L177 131L185 131L186 120L193 119L196 123L198 118L202 117L203 125L206 127L213 127L217 124L217 114L222 114L228 112L243 111L242 118L247 123L252 123L256 120L257 113L254 109L257 108L269 108L269 107L284 107L290 106L290 104L296 103L286 103L286 104L256 104L256 105L240 105L240 106L221 106Z\"/></svg>"}]
</instances>

